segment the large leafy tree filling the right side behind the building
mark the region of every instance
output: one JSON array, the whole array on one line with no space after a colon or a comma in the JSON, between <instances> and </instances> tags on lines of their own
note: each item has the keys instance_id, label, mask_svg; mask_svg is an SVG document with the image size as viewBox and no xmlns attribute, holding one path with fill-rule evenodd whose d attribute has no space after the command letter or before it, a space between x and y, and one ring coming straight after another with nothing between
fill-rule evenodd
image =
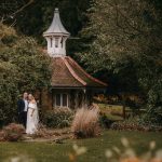
<instances>
[{"instance_id":1,"label":"large leafy tree filling the right side behind the building","mask_svg":"<svg viewBox=\"0 0 162 162\"><path fill-rule=\"evenodd\" d=\"M79 55L89 71L110 79L110 86L116 83L119 94L141 93L148 116L158 116L158 122L162 121L161 9L149 0L95 0L81 32L85 52Z\"/></svg>"}]
</instances>

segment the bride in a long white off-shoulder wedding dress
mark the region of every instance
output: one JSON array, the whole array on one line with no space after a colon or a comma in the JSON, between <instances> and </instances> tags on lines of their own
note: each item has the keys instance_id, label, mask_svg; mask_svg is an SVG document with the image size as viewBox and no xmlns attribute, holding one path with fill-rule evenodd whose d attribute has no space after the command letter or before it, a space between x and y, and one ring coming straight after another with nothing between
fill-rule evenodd
<instances>
[{"instance_id":1,"label":"bride in a long white off-shoulder wedding dress","mask_svg":"<svg viewBox=\"0 0 162 162\"><path fill-rule=\"evenodd\" d=\"M28 99L29 104L27 112L26 133L35 134L38 131L38 123L39 123L38 107L32 94L28 95Z\"/></svg>"}]
</instances>

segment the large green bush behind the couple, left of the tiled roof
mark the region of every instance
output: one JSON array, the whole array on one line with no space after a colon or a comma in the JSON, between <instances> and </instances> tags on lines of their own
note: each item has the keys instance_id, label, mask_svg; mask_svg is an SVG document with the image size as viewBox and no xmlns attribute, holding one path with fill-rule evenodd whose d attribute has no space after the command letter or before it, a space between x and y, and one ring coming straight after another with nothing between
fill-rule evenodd
<instances>
[{"instance_id":1,"label":"large green bush behind the couple, left of the tiled roof","mask_svg":"<svg viewBox=\"0 0 162 162\"><path fill-rule=\"evenodd\" d=\"M24 91L32 92L50 84L50 58L29 37L0 24L0 122L17 117L16 103Z\"/></svg>"}]
</instances>

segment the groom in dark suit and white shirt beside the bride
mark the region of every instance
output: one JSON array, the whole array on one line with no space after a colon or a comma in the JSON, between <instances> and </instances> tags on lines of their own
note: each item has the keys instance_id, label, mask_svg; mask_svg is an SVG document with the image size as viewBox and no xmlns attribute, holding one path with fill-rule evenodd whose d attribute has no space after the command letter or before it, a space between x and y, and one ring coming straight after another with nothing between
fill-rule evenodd
<instances>
[{"instance_id":1,"label":"groom in dark suit and white shirt beside the bride","mask_svg":"<svg viewBox=\"0 0 162 162\"><path fill-rule=\"evenodd\" d=\"M28 109L28 93L23 94L23 98L17 102L19 123L26 129L27 109Z\"/></svg>"}]
</instances>

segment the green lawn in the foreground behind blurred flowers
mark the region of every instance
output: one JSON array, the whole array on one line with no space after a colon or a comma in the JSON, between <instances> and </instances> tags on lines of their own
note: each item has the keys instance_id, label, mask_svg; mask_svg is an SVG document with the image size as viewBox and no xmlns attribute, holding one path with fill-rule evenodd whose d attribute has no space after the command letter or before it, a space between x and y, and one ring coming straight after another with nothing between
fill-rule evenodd
<instances>
[{"instance_id":1,"label":"green lawn in the foreground behind blurred flowers","mask_svg":"<svg viewBox=\"0 0 162 162\"><path fill-rule=\"evenodd\" d=\"M69 139L65 140L64 144L0 143L0 162L18 154L27 154L38 162L68 162L68 153L72 151L75 143L87 148L87 152L78 158L79 162L105 162L105 150L107 148L112 146L122 148L121 137L126 137L139 154L148 149L151 140L157 141L157 148L162 148L161 133L106 131L98 138Z\"/></svg>"}]
</instances>

